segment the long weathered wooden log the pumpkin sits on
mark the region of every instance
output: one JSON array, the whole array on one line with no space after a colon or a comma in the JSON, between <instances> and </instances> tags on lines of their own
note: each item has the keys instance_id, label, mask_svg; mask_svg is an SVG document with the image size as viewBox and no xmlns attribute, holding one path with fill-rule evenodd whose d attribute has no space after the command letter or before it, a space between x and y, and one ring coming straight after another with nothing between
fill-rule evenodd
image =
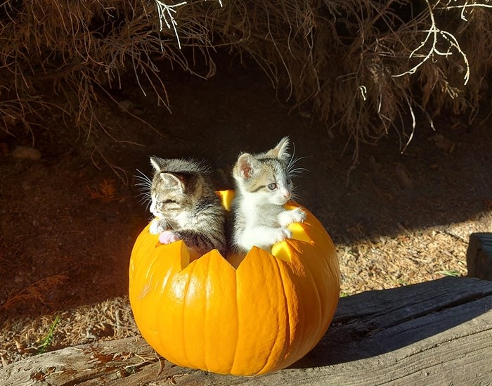
<instances>
[{"instance_id":1,"label":"long weathered wooden log the pumpkin sits on","mask_svg":"<svg viewBox=\"0 0 492 386\"><path fill-rule=\"evenodd\" d=\"M491 352L492 282L444 278L341 299L323 340L268 375L180 368L133 337L8 365L0 385L491 385Z\"/></svg>"}]
</instances>

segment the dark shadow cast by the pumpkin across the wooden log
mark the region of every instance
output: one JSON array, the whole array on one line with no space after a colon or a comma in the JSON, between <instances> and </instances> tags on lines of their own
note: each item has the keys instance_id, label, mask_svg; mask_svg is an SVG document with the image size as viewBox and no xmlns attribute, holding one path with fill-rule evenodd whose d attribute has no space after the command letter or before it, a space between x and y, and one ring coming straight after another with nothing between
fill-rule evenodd
<instances>
[{"instance_id":1,"label":"dark shadow cast by the pumpkin across the wooden log","mask_svg":"<svg viewBox=\"0 0 492 386\"><path fill-rule=\"evenodd\" d=\"M411 352L422 352L470 335L461 326L458 333L436 336L485 314L492 308L490 295L492 282L442 278L342 298L321 342L290 368L333 366L374 356L383 356L384 362L384 354L398 357L397 350L404 347L413 345Z\"/></svg>"}]
</instances>

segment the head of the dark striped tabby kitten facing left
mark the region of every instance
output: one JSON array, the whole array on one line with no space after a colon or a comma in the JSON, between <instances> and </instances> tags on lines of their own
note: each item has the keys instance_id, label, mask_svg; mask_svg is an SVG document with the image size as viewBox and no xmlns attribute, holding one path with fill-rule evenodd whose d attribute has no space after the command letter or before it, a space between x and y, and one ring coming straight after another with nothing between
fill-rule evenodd
<instances>
[{"instance_id":1,"label":"head of the dark striped tabby kitten facing left","mask_svg":"<svg viewBox=\"0 0 492 386\"><path fill-rule=\"evenodd\" d=\"M173 219L191 209L205 193L203 174L208 169L188 160L150 157L154 176L150 186L150 212L155 217Z\"/></svg>"}]
</instances>

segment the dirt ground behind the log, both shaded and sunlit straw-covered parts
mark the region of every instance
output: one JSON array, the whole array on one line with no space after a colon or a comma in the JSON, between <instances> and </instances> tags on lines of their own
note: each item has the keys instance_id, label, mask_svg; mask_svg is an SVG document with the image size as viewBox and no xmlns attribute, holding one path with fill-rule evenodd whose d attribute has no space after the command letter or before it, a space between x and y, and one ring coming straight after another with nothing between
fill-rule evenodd
<instances>
[{"instance_id":1,"label":"dirt ground behind the log, both shaded and sunlit straw-covered parts","mask_svg":"<svg viewBox=\"0 0 492 386\"><path fill-rule=\"evenodd\" d=\"M492 230L490 119L469 126L446 115L436 131L421 120L403 155L390 132L377 146L361 145L347 180L353 143L343 153L337 127L290 112L261 72L235 66L208 81L164 80L172 113L130 82L113 95L119 107L101 105L117 141L86 141L46 112L50 127L38 127L34 141L41 159L30 160L15 153L32 145L30 135L0 132L0 366L138 334L127 271L150 217L134 181L137 169L150 174L150 155L204 158L217 187L232 188L240 151L289 135L305 157L298 165L309 169L295 181L300 201L337 246L341 296L465 275L470 233Z\"/></svg>"}]
</instances>

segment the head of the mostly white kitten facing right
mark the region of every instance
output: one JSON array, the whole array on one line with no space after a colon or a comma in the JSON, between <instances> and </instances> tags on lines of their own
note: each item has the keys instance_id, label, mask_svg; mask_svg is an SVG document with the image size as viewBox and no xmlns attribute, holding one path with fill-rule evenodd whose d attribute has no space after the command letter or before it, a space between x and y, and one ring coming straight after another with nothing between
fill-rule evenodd
<instances>
[{"instance_id":1,"label":"head of the mostly white kitten facing right","mask_svg":"<svg viewBox=\"0 0 492 386\"><path fill-rule=\"evenodd\" d=\"M238 189L255 200L284 205L292 196L292 179L288 172L289 138L265 153L243 153L233 169Z\"/></svg>"}]
</instances>

